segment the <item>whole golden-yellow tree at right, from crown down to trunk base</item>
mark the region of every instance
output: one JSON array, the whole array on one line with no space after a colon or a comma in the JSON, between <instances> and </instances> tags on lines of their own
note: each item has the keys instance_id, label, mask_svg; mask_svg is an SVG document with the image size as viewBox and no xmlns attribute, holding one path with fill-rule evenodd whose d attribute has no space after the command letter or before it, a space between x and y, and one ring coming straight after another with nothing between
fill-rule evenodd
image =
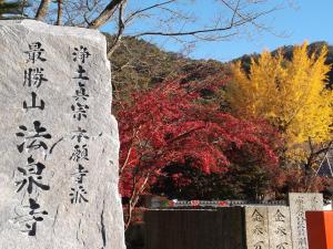
<instances>
[{"instance_id":1,"label":"whole golden-yellow tree at right, from crown down to trunk base","mask_svg":"<svg viewBox=\"0 0 333 249\"><path fill-rule=\"evenodd\" d=\"M316 172L333 141L333 92L327 87L327 49L309 53L295 46L291 60L279 51L252 59L250 72L233 65L228 87L232 112L240 117L264 118L284 139L281 154L285 186L293 191L319 190Z\"/></svg>"}]
</instances>

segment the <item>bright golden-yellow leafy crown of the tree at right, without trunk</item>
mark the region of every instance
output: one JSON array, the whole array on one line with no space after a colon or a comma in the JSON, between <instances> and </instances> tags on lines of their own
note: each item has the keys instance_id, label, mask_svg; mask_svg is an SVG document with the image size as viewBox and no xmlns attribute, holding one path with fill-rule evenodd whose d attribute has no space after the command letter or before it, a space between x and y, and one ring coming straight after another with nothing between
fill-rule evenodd
<instances>
[{"instance_id":1,"label":"bright golden-yellow leafy crown of the tree at right, without trunk","mask_svg":"<svg viewBox=\"0 0 333 249\"><path fill-rule=\"evenodd\" d=\"M295 46L292 60L279 51L264 51L252 59L250 74L240 63L232 66L234 82L228 86L232 110L242 117L265 118L278 127L287 142L297 146L332 139L333 91L325 89L327 49L307 54L307 43ZM291 154L295 152L290 152Z\"/></svg>"}]
</instances>

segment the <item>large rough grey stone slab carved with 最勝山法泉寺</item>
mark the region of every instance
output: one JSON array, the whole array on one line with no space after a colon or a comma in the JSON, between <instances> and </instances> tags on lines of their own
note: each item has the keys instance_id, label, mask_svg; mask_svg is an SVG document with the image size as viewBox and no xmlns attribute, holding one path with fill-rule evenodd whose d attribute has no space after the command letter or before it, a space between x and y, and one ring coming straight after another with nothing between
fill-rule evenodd
<instances>
[{"instance_id":1,"label":"large rough grey stone slab carved with \u6700\u52dd\u5c71\u6cd5\u6cc9\u5bfa","mask_svg":"<svg viewBox=\"0 0 333 249\"><path fill-rule=\"evenodd\" d=\"M124 249L98 31L0 21L0 248Z\"/></svg>"}]
</instances>

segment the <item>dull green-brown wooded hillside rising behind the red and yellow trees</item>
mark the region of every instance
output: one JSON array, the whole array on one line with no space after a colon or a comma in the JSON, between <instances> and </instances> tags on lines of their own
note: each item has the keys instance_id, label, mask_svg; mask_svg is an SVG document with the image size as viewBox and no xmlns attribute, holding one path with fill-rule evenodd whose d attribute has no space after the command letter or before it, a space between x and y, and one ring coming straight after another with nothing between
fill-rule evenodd
<instances>
[{"instance_id":1,"label":"dull green-brown wooded hillside rising behind the red and yellow trees","mask_svg":"<svg viewBox=\"0 0 333 249\"><path fill-rule=\"evenodd\" d=\"M108 35L108 40L112 37ZM314 42L309 45L309 52L320 51L323 45L329 48L327 63L333 63L333 46L326 42ZM293 45L279 48L286 58L292 56ZM275 54L278 50L272 53ZM250 69L251 58L259 54L245 54L240 59L244 69ZM182 76L184 82L205 81L219 73L229 73L229 63L214 60L191 60L181 54L165 52L157 45L124 38L124 42L117 49L112 58L112 84L115 97L127 95L132 90L142 90L175 76ZM330 82L333 82L333 69L330 72Z\"/></svg>"}]
</instances>

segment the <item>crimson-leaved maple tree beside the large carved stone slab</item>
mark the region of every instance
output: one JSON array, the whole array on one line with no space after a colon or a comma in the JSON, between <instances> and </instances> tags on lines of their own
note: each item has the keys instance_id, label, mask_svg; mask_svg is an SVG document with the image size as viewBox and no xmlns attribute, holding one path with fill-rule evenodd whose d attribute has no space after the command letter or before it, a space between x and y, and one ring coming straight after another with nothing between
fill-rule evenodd
<instances>
[{"instance_id":1,"label":"crimson-leaved maple tree beside the large carved stone slab","mask_svg":"<svg viewBox=\"0 0 333 249\"><path fill-rule=\"evenodd\" d=\"M211 84L211 90L221 83ZM140 196L171 163L186 162L204 173L223 173L232 148L244 147L260 151L263 160L276 165L272 143L276 134L266 123L239 120L216 104L202 104L199 92L169 82L133 94L132 104L118 103L120 191L129 199L125 227Z\"/></svg>"}]
</instances>

